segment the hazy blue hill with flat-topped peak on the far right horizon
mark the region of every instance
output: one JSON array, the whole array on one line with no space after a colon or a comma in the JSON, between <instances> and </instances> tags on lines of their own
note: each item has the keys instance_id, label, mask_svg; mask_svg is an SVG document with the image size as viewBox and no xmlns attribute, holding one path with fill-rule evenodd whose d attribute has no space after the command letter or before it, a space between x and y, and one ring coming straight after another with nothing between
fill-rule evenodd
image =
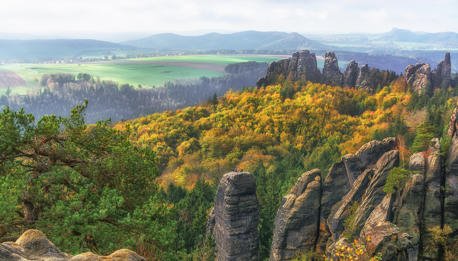
<instances>
[{"instance_id":1,"label":"hazy blue hill with flat-topped peak on the far right horizon","mask_svg":"<svg viewBox=\"0 0 458 261\"><path fill-rule=\"evenodd\" d=\"M378 40L393 42L436 43L444 47L458 47L458 33L456 32L412 32L406 29L393 28L390 32L380 34Z\"/></svg>"}]
</instances>

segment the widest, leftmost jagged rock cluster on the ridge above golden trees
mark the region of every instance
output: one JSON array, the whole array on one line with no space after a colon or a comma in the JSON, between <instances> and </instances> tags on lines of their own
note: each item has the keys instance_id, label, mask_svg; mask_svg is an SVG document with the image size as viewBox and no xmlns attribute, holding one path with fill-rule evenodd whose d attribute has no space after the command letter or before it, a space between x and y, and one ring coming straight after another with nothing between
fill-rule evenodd
<instances>
[{"instance_id":1,"label":"widest, leftmost jagged rock cluster on the ridge above golden trees","mask_svg":"<svg viewBox=\"0 0 458 261\"><path fill-rule=\"evenodd\" d=\"M283 75L289 80L308 80L311 82L320 82L321 73L316 64L315 53L308 50L302 50L300 53L295 52L291 57L271 62L267 66L267 74L256 81L256 86L274 84L274 81Z\"/></svg>"}]
</instances>

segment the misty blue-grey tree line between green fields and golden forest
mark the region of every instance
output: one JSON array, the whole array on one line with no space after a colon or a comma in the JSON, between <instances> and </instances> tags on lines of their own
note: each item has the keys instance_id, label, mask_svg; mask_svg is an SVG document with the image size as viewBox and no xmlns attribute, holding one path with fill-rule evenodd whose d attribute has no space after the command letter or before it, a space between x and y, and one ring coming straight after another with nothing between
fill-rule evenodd
<instances>
[{"instance_id":1,"label":"misty blue-grey tree line between green fields and golden forest","mask_svg":"<svg viewBox=\"0 0 458 261\"><path fill-rule=\"evenodd\" d=\"M229 89L240 90L253 85L265 75L266 63L261 67L240 66L240 74L199 79L164 81L164 85L153 88L134 88L127 83L119 85L111 80L100 80L88 74L57 73L42 75L39 86L27 91L27 95L1 96L0 109L10 106L12 111L23 107L36 117L59 115L70 112L72 107L87 99L86 123L110 118L113 121L132 119L156 112L174 111L206 101L208 96L222 96ZM233 67L238 67L233 65ZM68 116L68 115L62 115Z\"/></svg>"}]
</instances>

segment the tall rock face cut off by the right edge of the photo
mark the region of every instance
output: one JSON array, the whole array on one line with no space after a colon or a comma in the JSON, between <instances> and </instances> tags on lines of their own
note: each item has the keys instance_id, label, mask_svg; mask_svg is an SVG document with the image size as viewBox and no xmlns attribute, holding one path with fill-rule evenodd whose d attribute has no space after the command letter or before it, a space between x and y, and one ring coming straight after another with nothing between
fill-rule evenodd
<instances>
[{"instance_id":1,"label":"tall rock face cut off by the right edge of the photo","mask_svg":"<svg viewBox=\"0 0 458 261\"><path fill-rule=\"evenodd\" d=\"M458 241L458 107L453 111L447 133L452 136L448 150L448 172L445 175L444 225L452 229L452 242Z\"/></svg>"}]
</instances>

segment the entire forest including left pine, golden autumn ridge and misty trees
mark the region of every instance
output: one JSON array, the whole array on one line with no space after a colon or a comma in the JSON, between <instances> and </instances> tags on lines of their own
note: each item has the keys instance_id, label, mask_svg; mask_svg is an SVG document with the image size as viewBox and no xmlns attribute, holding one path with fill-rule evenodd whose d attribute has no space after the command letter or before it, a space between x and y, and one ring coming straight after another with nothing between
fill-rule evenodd
<instances>
[{"instance_id":1,"label":"entire forest including left pine, golden autumn ridge and misty trees","mask_svg":"<svg viewBox=\"0 0 458 261\"><path fill-rule=\"evenodd\" d=\"M244 75L244 68L251 66L228 70ZM7 98L10 108L22 105L25 112L8 108L0 114L0 138L7 141L0 144L0 238L35 228L71 254L129 248L148 260L202 260L196 256L214 253L205 230L216 187L237 168L255 177L260 257L268 260L278 206L302 173L318 168L324 177L344 154L373 139L398 137L409 148L425 121L435 137L447 140L456 89L417 94L387 71L373 73L381 76L374 95L282 76L273 85L240 90L224 90L229 84L221 82L237 75L176 81L162 89L118 88L83 74L44 76L44 91L25 98L33 102ZM223 93L211 89L213 97L204 95L208 86ZM163 101L162 95L182 97L190 87L200 105L176 109L174 101ZM84 103L96 95L99 100ZM51 103L37 103L42 97ZM129 109L129 101L152 97L164 112L95 123L109 111L99 108ZM64 101L83 105L68 118L27 115L31 104L68 112ZM131 111L131 117L151 113ZM127 117L120 112L117 119ZM86 125L87 119L95 124ZM404 160L414 152L406 150Z\"/></svg>"}]
</instances>

